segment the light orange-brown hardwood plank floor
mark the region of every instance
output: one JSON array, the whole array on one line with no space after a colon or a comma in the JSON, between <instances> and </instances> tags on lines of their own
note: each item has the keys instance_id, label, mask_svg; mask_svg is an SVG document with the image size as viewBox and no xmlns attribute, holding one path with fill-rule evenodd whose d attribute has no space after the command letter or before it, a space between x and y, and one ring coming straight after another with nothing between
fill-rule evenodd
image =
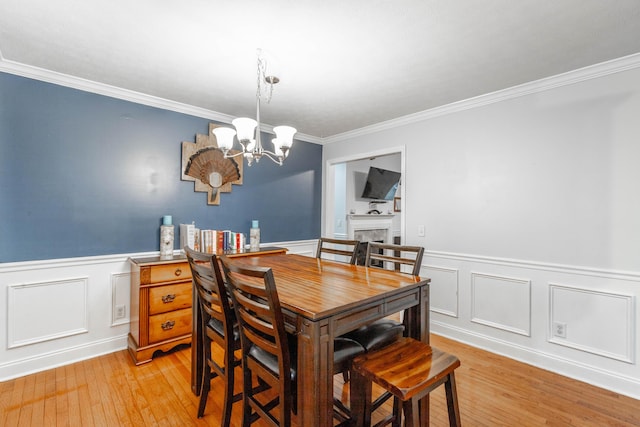
<instances>
[{"instance_id":1,"label":"light orange-brown hardwood plank floor","mask_svg":"<svg viewBox=\"0 0 640 427\"><path fill-rule=\"evenodd\" d=\"M640 426L638 400L442 337L432 344L462 362L456 380L465 426ZM0 426L219 425L219 383L197 419L189 364L189 348L138 367L120 351L2 382ZM240 416L237 403L233 426ZM431 395L431 425L447 425L442 387Z\"/></svg>"}]
</instances>

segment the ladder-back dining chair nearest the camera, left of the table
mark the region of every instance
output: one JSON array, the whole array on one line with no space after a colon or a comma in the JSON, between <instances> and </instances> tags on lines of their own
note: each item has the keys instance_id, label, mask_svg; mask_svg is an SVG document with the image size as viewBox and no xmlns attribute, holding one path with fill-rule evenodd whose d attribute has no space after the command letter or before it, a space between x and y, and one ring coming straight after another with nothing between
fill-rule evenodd
<instances>
[{"instance_id":1,"label":"ladder-back dining chair nearest the camera, left of the table","mask_svg":"<svg viewBox=\"0 0 640 427\"><path fill-rule=\"evenodd\" d=\"M270 268L242 266L222 256L229 293L238 319L242 348L242 425L263 419L291 425L296 407L296 340L285 331L284 316ZM275 390L274 397L252 388L253 376Z\"/></svg>"}]
</instances>

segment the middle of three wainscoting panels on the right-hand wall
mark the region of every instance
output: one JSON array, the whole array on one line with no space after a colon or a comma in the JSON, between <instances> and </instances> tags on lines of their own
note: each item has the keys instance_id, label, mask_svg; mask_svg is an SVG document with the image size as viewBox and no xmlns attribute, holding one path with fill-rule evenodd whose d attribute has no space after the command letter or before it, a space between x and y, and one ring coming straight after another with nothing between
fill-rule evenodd
<instances>
[{"instance_id":1,"label":"middle of three wainscoting panels on the right-hand wall","mask_svg":"<svg viewBox=\"0 0 640 427\"><path fill-rule=\"evenodd\" d=\"M471 273L471 321L531 334L531 281Z\"/></svg>"}]
</instances>

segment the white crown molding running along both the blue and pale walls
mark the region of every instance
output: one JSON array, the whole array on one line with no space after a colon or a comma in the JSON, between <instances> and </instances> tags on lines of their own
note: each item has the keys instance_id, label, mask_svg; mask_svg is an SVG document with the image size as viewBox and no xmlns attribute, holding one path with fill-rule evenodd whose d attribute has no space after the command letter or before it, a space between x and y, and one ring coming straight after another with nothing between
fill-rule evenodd
<instances>
[{"instance_id":1,"label":"white crown molding running along both the blue and pale walls","mask_svg":"<svg viewBox=\"0 0 640 427\"><path fill-rule=\"evenodd\" d=\"M365 126L352 131L340 133L329 137L317 137L303 133L297 133L296 138L299 141L311 142L314 144L330 144L333 142L344 141L358 136L369 135L387 129L393 129L400 126L406 126L412 123L429 120L435 117L444 116L464 110L483 107L485 105L494 104L508 99L527 96L546 90L568 86L585 80L595 79L609 74L619 73L640 67L640 53L624 56L622 58L613 59L577 70L558 74L544 79L535 80L533 82L524 83L507 89L491 92L488 94L476 96L474 98L465 99L451 104L443 105L429 110L420 111L396 119L387 120L376 123L371 126ZM209 120L215 120L220 123L231 123L235 118L228 114L219 113L217 111L205 108L195 107L141 92L135 92L128 89L119 88L103 83L94 82L79 77L73 77L68 74L58 73L44 68L33 67L15 61L5 59L0 52L0 71L9 74L15 74L34 80L40 80L48 83L57 84L73 89L91 92L98 95L109 96L111 98L122 99L125 101L135 102L137 104L147 105L150 107L161 108L163 110L175 111L177 113L188 114L195 117L202 117ZM262 124L262 131L273 133L273 126Z\"/></svg>"}]
</instances>

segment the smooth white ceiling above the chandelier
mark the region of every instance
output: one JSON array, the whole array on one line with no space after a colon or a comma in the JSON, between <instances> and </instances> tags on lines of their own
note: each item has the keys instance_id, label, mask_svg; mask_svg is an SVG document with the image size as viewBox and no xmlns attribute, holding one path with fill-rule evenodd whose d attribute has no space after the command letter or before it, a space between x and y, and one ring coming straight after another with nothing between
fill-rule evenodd
<instances>
[{"instance_id":1,"label":"smooth white ceiling above the chandelier","mask_svg":"<svg viewBox=\"0 0 640 427\"><path fill-rule=\"evenodd\" d=\"M327 138L640 52L639 0L0 0L0 61ZM5 67L6 69L6 67Z\"/></svg>"}]
</instances>

